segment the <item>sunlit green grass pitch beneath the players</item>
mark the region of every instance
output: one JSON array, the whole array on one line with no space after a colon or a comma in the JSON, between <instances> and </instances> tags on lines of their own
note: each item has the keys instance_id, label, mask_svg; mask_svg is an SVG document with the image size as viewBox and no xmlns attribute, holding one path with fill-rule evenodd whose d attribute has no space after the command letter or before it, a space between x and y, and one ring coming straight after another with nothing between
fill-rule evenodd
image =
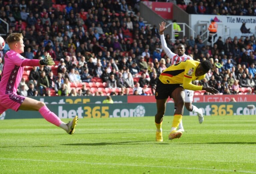
<instances>
[{"instance_id":1,"label":"sunlit green grass pitch beneath the players","mask_svg":"<svg viewBox=\"0 0 256 174\"><path fill-rule=\"evenodd\" d=\"M256 173L256 117L183 117L168 140L164 117L79 119L74 135L43 119L0 121L0 173ZM65 120L68 121L68 120Z\"/></svg>"}]
</instances>

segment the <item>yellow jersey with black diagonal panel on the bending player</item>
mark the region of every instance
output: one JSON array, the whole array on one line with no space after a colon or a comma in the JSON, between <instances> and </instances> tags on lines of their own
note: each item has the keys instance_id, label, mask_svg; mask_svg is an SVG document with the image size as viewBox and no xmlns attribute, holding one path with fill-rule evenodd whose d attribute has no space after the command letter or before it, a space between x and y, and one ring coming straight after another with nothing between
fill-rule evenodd
<instances>
[{"instance_id":1,"label":"yellow jersey with black diagonal panel on the bending player","mask_svg":"<svg viewBox=\"0 0 256 174\"><path fill-rule=\"evenodd\" d=\"M202 90L203 86L193 85L192 80L202 80L205 74L195 76L196 68L200 62L196 60L186 60L166 68L159 76L159 80L164 84L183 84L184 89L197 91Z\"/></svg>"}]
</instances>

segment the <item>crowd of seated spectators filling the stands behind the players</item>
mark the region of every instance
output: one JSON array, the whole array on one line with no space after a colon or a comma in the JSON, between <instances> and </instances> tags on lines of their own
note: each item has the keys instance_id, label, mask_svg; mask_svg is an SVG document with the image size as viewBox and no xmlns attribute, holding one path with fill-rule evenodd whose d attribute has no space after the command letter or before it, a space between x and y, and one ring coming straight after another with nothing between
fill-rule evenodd
<instances>
[{"instance_id":1,"label":"crowd of seated spectators filling the stands behind the players","mask_svg":"<svg viewBox=\"0 0 256 174\"><path fill-rule=\"evenodd\" d=\"M42 59L49 52L56 63L24 67L20 95L154 95L159 74L171 64L162 49L157 26L145 25L136 9L138 1L51 2L52 5L43 0L0 0L0 18L9 24L7 34L23 34L23 56ZM245 0L244 6L236 0L219 2L222 0L217 3L218 9L231 6L228 13L238 4L240 9L248 9L249 5L255 14L255 2ZM215 1L204 1L207 3L217 8ZM199 8L193 8L200 13ZM208 8L209 14L214 9ZM239 15L245 14L242 11ZM6 31L5 27L0 25L0 33ZM194 60L211 61L213 68L200 85L215 87L221 94L256 93L254 36L229 37L224 43L219 37L213 47L205 45L199 35L179 38L175 43L168 34L165 39L173 52L182 43L185 53ZM8 49L6 44L0 51L0 71ZM202 94L207 92L199 95Z\"/></svg>"}]
</instances>

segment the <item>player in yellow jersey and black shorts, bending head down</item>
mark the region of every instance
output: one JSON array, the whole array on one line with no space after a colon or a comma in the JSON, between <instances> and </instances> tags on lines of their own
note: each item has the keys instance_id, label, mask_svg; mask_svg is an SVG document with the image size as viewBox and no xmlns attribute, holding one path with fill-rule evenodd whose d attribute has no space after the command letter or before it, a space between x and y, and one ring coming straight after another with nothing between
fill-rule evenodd
<instances>
[{"instance_id":1,"label":"player in yellow jersey and black shorts, bending head down","mask_svg":"<svg viewBox=\"0 0 256 174\"><path fill-rule=\"evenodd\" d=\"M166 68L159 76L156 85L156 106L155 115L156 141L163 141L162 121L166 109L166 100L173 98L177 109L174 113L169 139L179 138L182 132L176 131L182 119L185 93L184 89L198 91L205 90L212 94L218 94L218 90L212 87L193 85L192 80L202 80L205 74L212 68L210 61L204 60L201 63L196 60L186 60Z\"/></svg>"}]
</instances>

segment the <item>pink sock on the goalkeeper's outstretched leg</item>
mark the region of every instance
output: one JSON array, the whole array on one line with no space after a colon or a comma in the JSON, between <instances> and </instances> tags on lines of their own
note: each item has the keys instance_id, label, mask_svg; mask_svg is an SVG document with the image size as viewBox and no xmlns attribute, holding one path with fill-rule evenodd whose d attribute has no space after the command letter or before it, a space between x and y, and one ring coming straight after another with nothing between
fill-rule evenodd
<instances>
[{"instance_id":1,"label":"pink sock on the goalkeeper's outstretched leg","mask_svg":"<svg viewBox=\"0 0 256 174\"><path fill-rule=\"evenodd\" d=\"M40 108L40 109L39 109L39 113L43 116L43 118L44 118L46 121L48 121L48 122L50 122L50 123L52 123L52 124L54 124L54 125L56 125L56 126L58 126L58 127L60 127L60 125L63 123L63 122L60 120L60 118L59 118L58 116L56 116L56 114L54 114L53 112L51 112L51 111L47 108L47 106L43 106L42 108Z\"/></svg>"}]
</instances>

